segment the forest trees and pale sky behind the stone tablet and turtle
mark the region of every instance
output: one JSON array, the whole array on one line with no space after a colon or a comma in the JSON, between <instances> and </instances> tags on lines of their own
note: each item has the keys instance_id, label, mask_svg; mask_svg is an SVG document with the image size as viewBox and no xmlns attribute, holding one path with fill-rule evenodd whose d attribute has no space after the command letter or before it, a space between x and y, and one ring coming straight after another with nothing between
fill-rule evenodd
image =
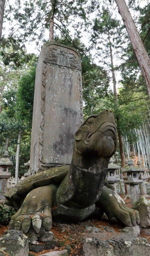
<instances>
[{"instance_id":1,"label":"forest trees and pale sky behind the stone tablet and turtle","mask_svg":"<svg viewBox=\"0 0 150 256\"><path fill-rule=\"evenodd\" d=\"M84 118L113 111L121 163L134 153L150 166L149 96L113 0L0 0L0 157L8 150L19 178L29 160L35 68L44 42L81 55ZM126 0L150 54L150 1ZM1 19L0 19L1 22ZM0 23L1 24L1 23Z\"/></svg>"}]
</instances>

